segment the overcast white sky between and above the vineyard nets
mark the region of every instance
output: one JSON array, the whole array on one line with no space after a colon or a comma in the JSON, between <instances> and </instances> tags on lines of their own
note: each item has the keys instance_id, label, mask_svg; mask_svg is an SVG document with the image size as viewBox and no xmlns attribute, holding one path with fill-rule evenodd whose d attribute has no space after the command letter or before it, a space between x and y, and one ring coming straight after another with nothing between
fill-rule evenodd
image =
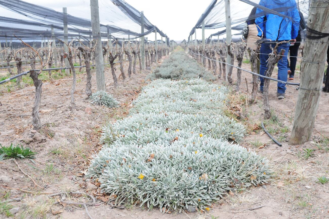
<instances>
[{"instance_id":1,"label":"overcast white sky between and above the vineyard nets","mask_svg":"<svg viewBox=\"0 0 329 219\"><path fill-rule=\"evenodd\" d=\"M63 7L67 7L68 14L85 18L90 16L90 8L88 8L89 0L25 1L52 8L56 11L62 11ZM160 30L163 30L163 32L166 33L170 39L187 40L192 27L194 27L195 23L210 4L211 0L126 0L126 2L137 10L144 11L145 17L153 25L156 25ZM101 4L104 3L108 4L110 7L115 7L110 0L99 0L101 14L106 12L106 10L101 6ZM102 20L100 22L102 22ZM206 30L205 35L208 37L211 33L215 32L217 32L217 30ZM153 40L152 38L154 39L154 34L149 35L149 39ZM197 30L197 38L201 39L201 29Z\"/></svg>"}]
</instances>

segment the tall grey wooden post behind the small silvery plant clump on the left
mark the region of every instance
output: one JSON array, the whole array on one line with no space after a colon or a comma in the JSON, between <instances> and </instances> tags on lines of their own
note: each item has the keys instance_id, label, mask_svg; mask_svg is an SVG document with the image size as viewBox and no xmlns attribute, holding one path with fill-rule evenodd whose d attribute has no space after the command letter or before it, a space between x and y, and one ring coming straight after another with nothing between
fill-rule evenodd
<instances>
[{"instance_id":1,"label":"tall grey wooden post behind the small silvery plant clump on the left","mask_svg":"<svg viewBox=\"0 0 329 219\"><path fill-rule=\"evenodd\" d=\"M96 40L95 64L97 91L106 91L104 77L104 59L102 50L102 38L100 34L98 0L90 0L92 37Z\"/></svg>"}]
</instances>

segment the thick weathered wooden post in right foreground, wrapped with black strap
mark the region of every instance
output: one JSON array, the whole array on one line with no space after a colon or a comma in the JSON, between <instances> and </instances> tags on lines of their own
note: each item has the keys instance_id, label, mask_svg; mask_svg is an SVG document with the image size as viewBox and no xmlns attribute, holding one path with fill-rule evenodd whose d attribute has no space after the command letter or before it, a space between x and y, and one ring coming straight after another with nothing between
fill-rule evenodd
<instances>
[{"instance_id":1,"label":"thick weathered wooden post in right foreground, wrapped with black strap","mask_svg":"<svg viewBox=\"0 0 329 219\"><path fill-rule=\"evenodd\" d=\"M328 1L311 1L307 27L317 33L329 33ZM329 38L311 39L307 31L304 56L300 66L300 85L295 118L289 144L302 144L310 140L322 88L323 71Z\"/></svg>"}]
</instances>

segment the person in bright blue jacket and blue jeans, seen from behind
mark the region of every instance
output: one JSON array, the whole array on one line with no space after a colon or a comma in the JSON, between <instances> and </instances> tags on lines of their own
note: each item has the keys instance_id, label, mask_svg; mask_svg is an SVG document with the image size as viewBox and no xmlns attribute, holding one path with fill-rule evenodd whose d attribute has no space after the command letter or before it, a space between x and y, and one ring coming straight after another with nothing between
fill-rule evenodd
<instances>
[{"instance_id":1,"label":"person in bright blue jacket and blue jeans, seen from behind","mask_svg":"<svg viewBox=\"0 0 329 219\"><path fill-rule=\"evenodd\" d=\"M267 39L268 42L265 42L261 45L260 50L260 74L265 75L267 69L267 59L269 53L272 52L272 48L275 47L277 42L289 41L291 43L281 43L277 47L277 53L280 53L282 49L285 50L284 56L278 62L278 79L282 81L287 81L288 79L288 51L289 46L293 45L296 42L296 37L299 30L299 13L297 10L295 0L261 0L260 5L278 11L286 16L278 16L275 14L266 14L260 17L257 17L255 20L256 25L259 27L258 36ZM257 8L256 15L263 11ZM263 13L264 14L264 13ZM261 77L260 91L263 93L264 88L264 78ZM277 97L278 99L284 99L286 92L286 85L278 82Z\"/></svg>"}]
</instances>

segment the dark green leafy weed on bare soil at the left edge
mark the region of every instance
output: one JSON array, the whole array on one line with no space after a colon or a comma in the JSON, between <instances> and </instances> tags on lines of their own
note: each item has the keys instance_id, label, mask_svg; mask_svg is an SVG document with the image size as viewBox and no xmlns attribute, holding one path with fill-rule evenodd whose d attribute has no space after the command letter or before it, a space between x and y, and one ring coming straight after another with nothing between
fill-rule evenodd
<instances>
[{"instance_id":1,"label":"dark green leafy weed on bare soil at the left edge","mask_svg":"<svg viewBox=\"0 0 329 219\"><path fill-rule=\"evenodd\" d=\"M9 147L2 146L0 144L0 160L18 158L18 159L34 159L37 155L36 152L31 151L30 148L24 148L23 146L13 146L11 144Z\"/></svg>"}]
</instances>

